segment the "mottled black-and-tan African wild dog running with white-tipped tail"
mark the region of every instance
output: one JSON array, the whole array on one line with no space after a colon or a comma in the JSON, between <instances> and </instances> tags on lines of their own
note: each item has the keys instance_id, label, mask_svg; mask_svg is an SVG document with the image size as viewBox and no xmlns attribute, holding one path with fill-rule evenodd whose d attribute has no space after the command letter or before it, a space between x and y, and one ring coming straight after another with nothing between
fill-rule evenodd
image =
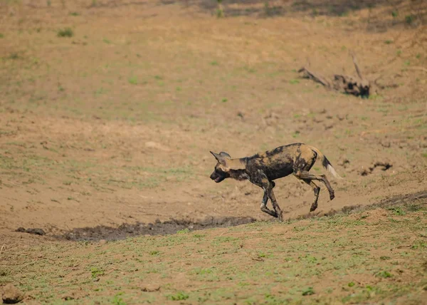
<instances>
[{"instance_id":1,"label":"mottled black-and-tan African wild dog running with white-tipped tail","mask_svg":"<svg viewBox=\"0 0 427 305\"><path fill-rule=\"evenodd\" d=\"M335 197L334 190L332 190L330 182L325 175L312 175L308 172L315 164L317 157L320 157L323 167L330 171L334 177L342 179L335 172L327 157L320 153L320 150L303 143L280 146L252 157L236 159L231 159L230 155L224 152L218 154L211 152L211 154L218 161L214 172L211 174L212 180L217 183L226 178L249 180L254 185L262 187L264 196L261 202L261 211L273 217L278 217L280 220L283 220L282 210L280 210L273 193L273 187L275 187L273 180L293 174L297 179L310 185L315 192L315 200L310 207L310 212L312 212L317 209L317 200L320 193L320 187L312 180L323 182L330 193L330 199L333 200ZM274 211L268 209L268 199L271 200Z\"/></svg>"}]
</instances>

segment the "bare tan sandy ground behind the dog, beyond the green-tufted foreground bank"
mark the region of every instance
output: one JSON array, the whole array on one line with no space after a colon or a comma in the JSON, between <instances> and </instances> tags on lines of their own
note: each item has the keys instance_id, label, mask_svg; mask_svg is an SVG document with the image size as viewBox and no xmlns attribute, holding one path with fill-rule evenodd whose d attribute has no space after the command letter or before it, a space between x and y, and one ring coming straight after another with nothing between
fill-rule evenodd
<instances>
[{"instance_id":1,"label":"bare tan sandy ground behind the dog, beyond the green-tufted foreground bank","mask_svg":"<svg viewBox=\"0 0 427 305\"><path fill-rule=\"evenodd\" d=\"M207 2L1 4L5 244L18 227L270 219L258 187L209 180L209 150L319 148L344 180L331 179L333 201L322 189L315 215L426 190L422 1L231 3L225 19ZM68 27L73 36L58 35ZM369 99L299 78L307 60L327 76L354 74L349 51L377 80ZM310 187L286 177L275 194L286 218L307 216Z\"/></svg>"}]
</instances>

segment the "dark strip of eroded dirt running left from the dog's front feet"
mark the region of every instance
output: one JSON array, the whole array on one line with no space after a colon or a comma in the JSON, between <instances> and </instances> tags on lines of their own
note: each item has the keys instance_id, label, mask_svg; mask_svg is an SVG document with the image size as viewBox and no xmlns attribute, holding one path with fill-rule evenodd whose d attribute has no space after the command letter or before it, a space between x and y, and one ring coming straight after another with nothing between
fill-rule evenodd
<instances>
[{"instance_id":1,"label":"dark strip of eroded dirt running left from the dog's front feet","mask_svg":"<svg viewBox=\"0 0 427 305\"><path fill-rule=\"evenodd\" d=\"M138 235L166 235L174 234L182 229L210 229L214 227L233 227L239 224L248 224L255 222L252 217L208 217L200 222L189 220L172 219L166 222L160 222L158 219L154 223L144 224L137 222L135 224L121 224L119 227L84 227L76 228L65 234L57 235L59 239L68 239L72 241L90 240L98 241L125 239Z\"/></svg>"}]
</instances>

